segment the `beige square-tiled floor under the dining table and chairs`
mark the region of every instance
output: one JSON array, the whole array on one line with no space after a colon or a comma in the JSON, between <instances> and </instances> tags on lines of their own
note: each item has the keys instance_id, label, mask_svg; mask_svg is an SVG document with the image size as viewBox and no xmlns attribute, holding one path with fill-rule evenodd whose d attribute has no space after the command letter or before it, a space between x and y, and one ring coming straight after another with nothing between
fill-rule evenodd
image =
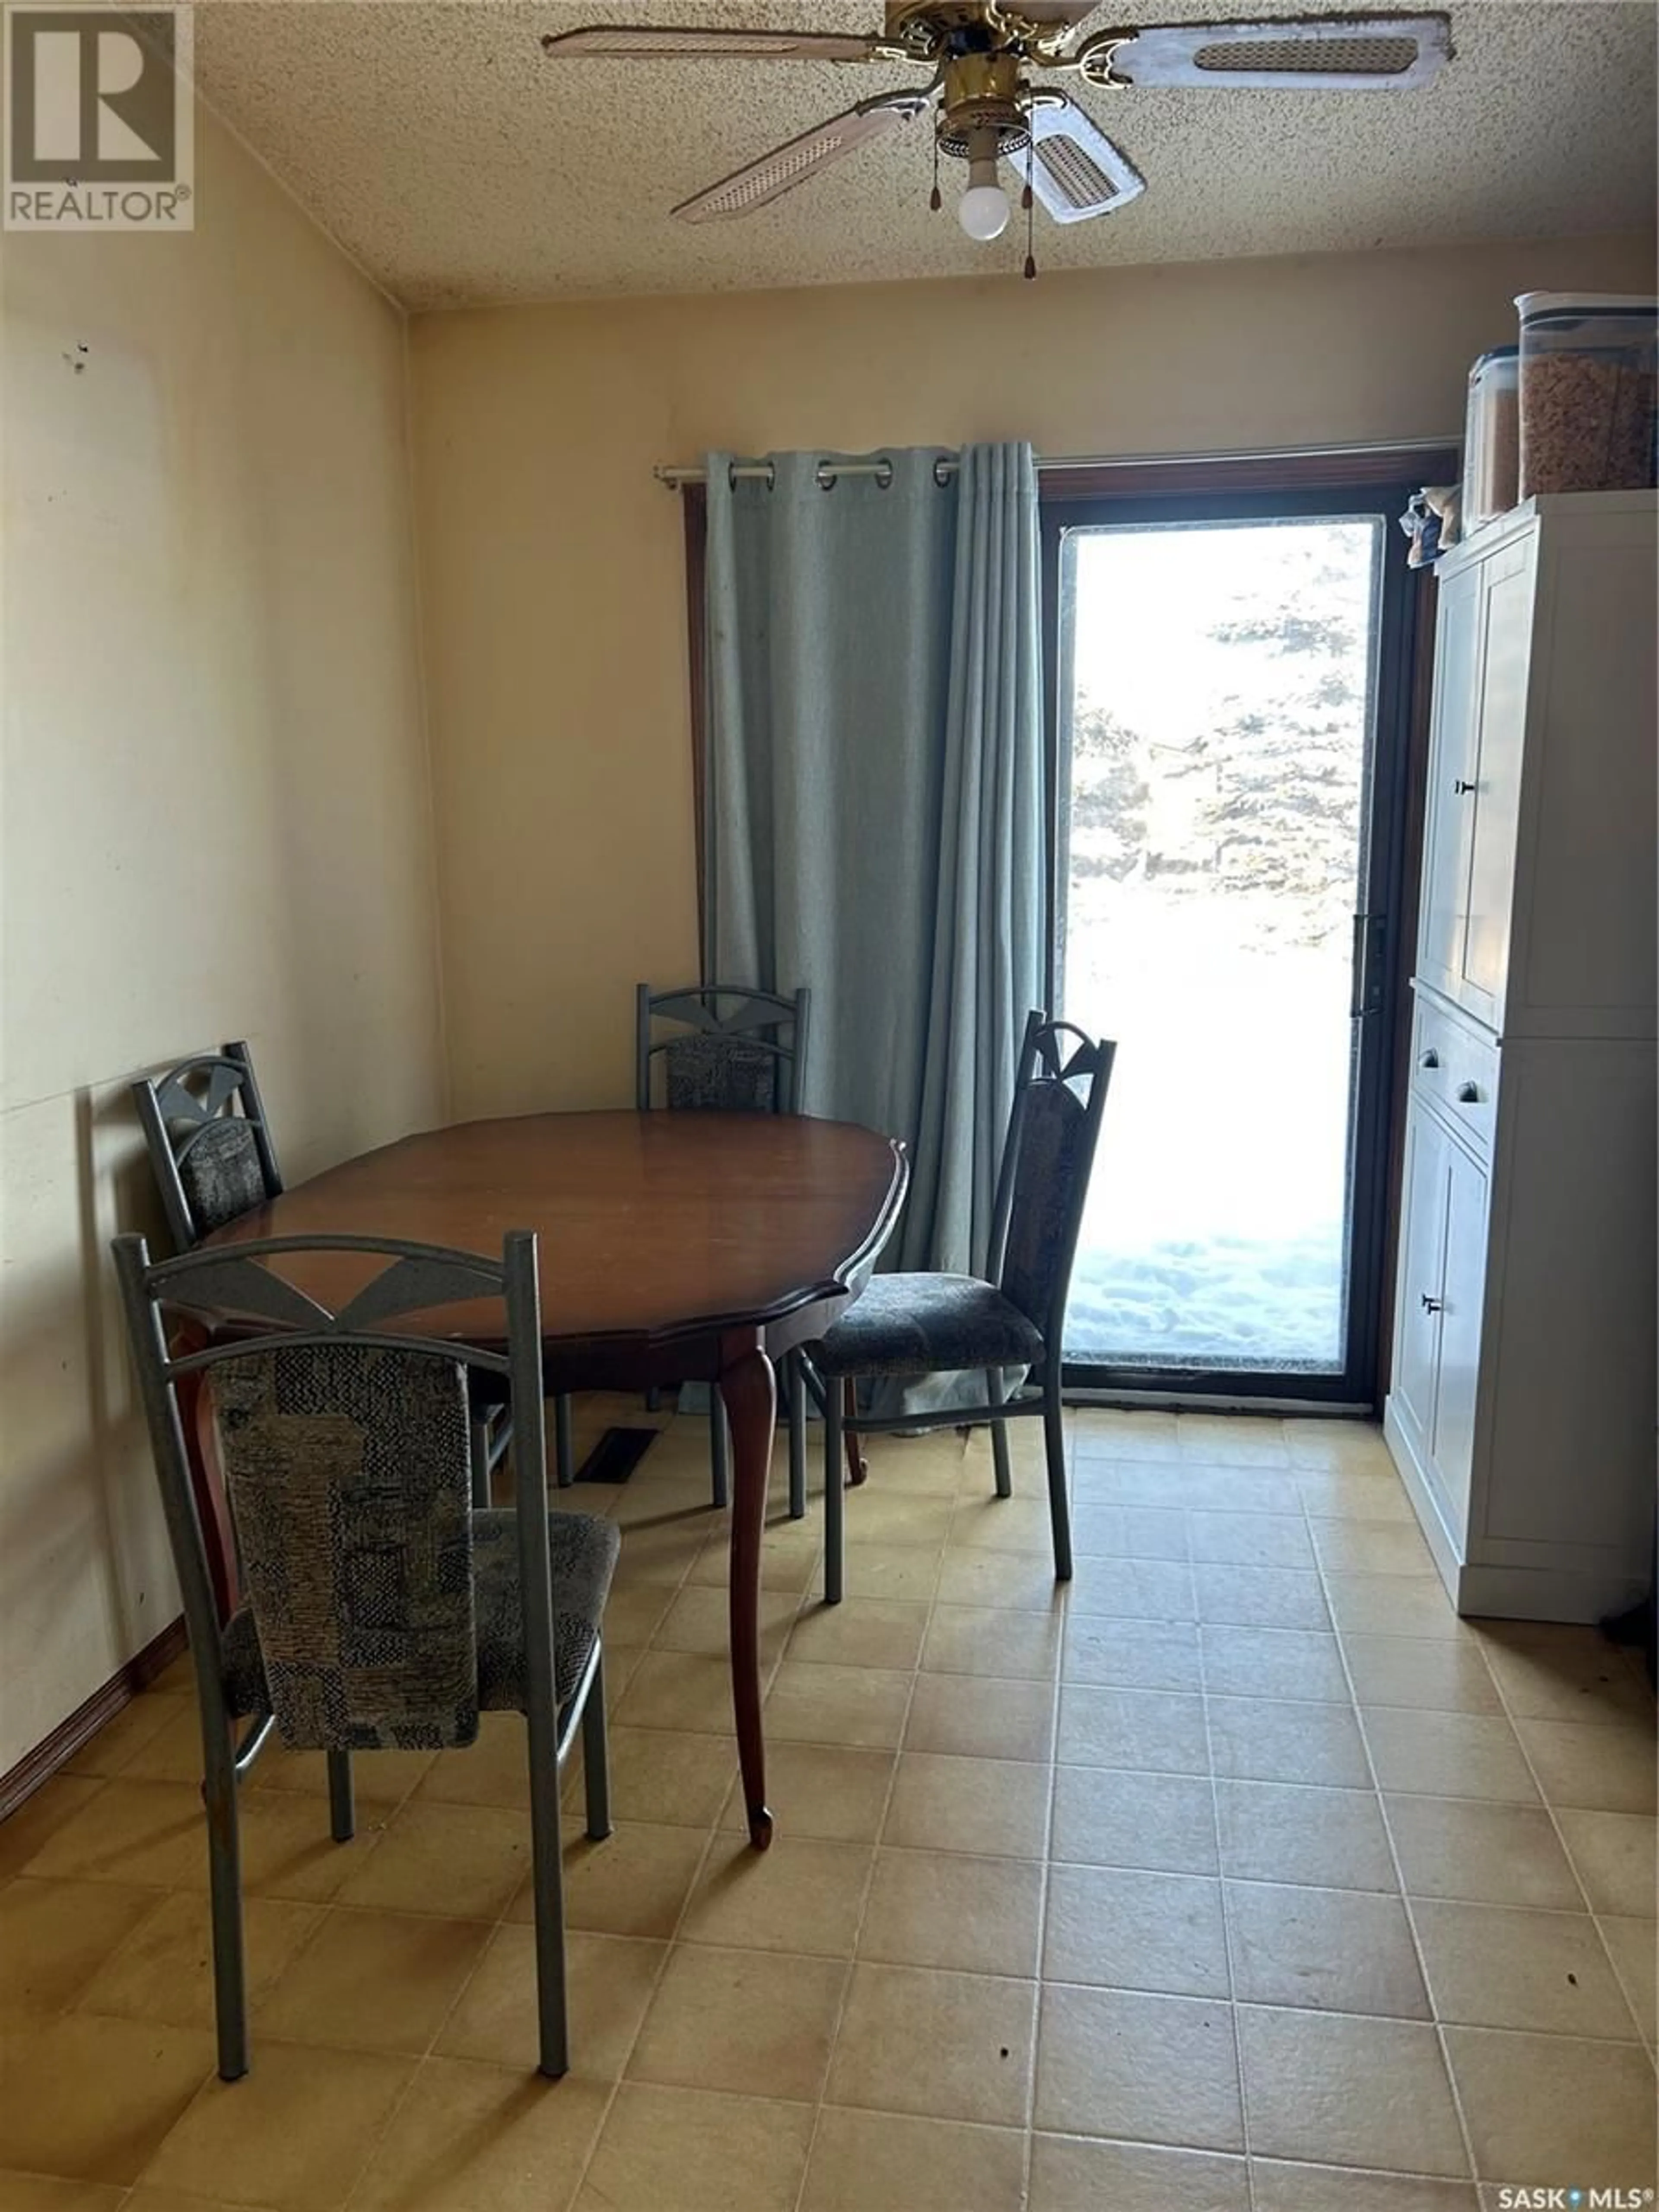
<instances>
[{"instance_id":1,"label":"beige square-tiled floor under the dining table and chairs","mask_svg":"<svg viewBox=\"0 0 1659 2212\"><path fill-rule=\"evenodd\" d=\"M633 1405L595 1402L588 1427ZM622 1491L615 1836L531 2070L522 1730L246 1794L254 2070L212 2077L175 1668L0 1827L0 2212L1475 2212L1655 2181L1655 1734L1584 1630L1460 1624L1371 1431L1079 1413L874 1442L847 1601L768 1535L774 1849L723 1528ZM571 1803L580 1792L573 1776ZM1484 2190L1484 2194L1482 2194Z\"/></svg>"}]
</instances>

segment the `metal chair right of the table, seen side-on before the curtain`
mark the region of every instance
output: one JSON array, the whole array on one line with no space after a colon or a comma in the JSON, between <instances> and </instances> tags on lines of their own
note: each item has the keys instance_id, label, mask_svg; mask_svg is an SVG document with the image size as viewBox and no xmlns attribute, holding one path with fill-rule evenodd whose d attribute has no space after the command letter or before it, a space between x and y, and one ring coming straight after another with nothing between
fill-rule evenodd
<instances>
[{"instance_id":1,"label":"metal chair right of the table, seen side-on before the curtain","mask_svg":"<svg viewBox=\"0 0 1659 2212\"><path fill-rule=\"evenodd\" d=\"M1099 1121L1117 1046L1093 1040L1046 1013L1026 1018L1013 1110L1002 1146L991 1250L984 1276L874 1274L843 1318L805 1356L825 1405L825 1562L823 1595L841 1604L845 1548L843 1442L951 1425L991 1425L998 1498L1013 1495L1011 1418L1040 1413L1048 1469L1055 1579L1071 1582L1071 1504L1066 1427L1060 1396L1062 1336L1071 1267L1095 1164ZM987 1402L945 1416L860 1416L854 1385L874 1376L920 1378L980 1369ZM1024 1369L1013 1396L1009 1369ZM863 1480L863 1462L854 1480Z\"/></svg>"}]
</instances>

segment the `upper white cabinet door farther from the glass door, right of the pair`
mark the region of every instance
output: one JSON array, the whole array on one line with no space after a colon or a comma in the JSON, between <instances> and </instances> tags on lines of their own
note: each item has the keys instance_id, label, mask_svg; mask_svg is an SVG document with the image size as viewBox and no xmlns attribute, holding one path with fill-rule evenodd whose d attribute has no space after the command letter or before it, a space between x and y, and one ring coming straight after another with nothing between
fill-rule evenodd
<instances>
[{"instance_id":1,"label":"upper white cabinet door farther from the glass door, right of the pair","mask_svg":"<svg viewBox=\"0 0 1659 2212\"><path fill-rule=\"evenodd\" d=\"M1526 672L1533 650L1533 553L1524 538L1482 562L1482 653L1471 792L1455 794L1469 821L1469 922L1458 1000L1493 1029L1502 1022L1509 916L1515 883L1515 821L1526 741Z\"/></svg>"}]
</instances>

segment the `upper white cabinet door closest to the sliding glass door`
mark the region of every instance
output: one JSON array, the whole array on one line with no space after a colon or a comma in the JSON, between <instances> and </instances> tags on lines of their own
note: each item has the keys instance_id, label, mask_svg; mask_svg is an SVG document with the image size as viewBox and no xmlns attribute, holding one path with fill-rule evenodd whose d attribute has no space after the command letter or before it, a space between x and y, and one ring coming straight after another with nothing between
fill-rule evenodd
<instances>
[{"instance_id":1,"label":"upper white cabinet door closest to the sliding glass door","mask_svg":"<svg viewBox=\"0 0 1659 2212\"><path fill-rule=\"evenodd\" d=\"M1469 933L1475 754L1480 726L1482 562L1440 586L1433 721L1422 843L1418 973L1458 998Z\"/></svg>"}]
</instances>

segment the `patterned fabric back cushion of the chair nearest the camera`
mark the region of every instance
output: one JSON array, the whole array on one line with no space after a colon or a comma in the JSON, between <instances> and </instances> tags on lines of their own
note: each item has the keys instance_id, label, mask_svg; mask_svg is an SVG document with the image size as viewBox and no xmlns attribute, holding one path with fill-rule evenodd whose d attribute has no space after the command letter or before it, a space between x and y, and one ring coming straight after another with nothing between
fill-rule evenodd
<instances>
[{"instance_id":1,"label":"patterned fabric back cushion of the chair nearest the camera","mask_svg":"<svg viewBox=\"0 0 1659 2212\"><path fill-rule=\"evenodd\" d=\"M460 1367L283 1345L215 1369L221 1458L276 1732L292 1750L478 1736Z\"/></svg>"}]
</instances>

